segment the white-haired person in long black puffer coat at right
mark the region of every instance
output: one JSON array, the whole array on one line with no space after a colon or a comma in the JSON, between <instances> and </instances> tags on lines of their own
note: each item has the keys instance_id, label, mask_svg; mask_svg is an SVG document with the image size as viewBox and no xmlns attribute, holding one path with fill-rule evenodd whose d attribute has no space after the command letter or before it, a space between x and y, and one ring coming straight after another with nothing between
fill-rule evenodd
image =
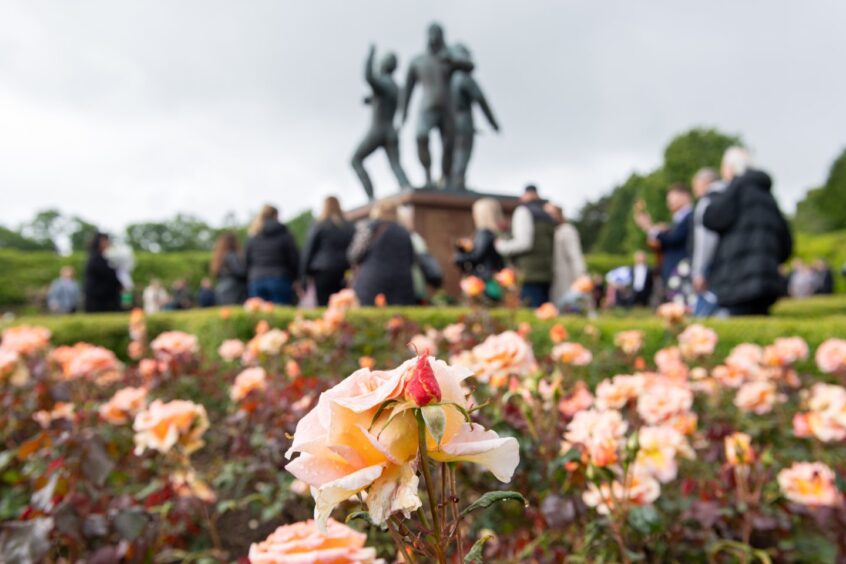
<instances>
[{"instance_id":1,"label":"white-haired person in long black puffer coat at right","mask_svg":"<svg viewBox=\"0 0 846 564\"><path fill-rule=\"evenodd\" d=\"M703 224L720 235L709 283L730 315L767 315L781 292L779 266L793 251L772 180L750 170L749 153L729 148L721 173L729 183L705 210Z\"/></svg>"}]
</instances>

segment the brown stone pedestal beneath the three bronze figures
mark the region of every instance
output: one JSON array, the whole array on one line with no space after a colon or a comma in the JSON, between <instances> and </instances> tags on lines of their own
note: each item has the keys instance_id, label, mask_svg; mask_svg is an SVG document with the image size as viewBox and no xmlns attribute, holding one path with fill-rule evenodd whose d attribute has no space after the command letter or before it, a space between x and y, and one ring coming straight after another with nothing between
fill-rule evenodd
<instances>
[{"instance_id":1,"label":"brown stone pedestal beneath the three bronze figures","mask_svg":"<svg viewBox=\"0 0 846 564\"><path fill-rule=\"evenodd\" d=\"M517 198L496 194L431 189L407 190L379 201L411 206L414 209L414 229L426 240L429 252L438 259L444 271L443 290L457 298L461 293L461 272L452 263L455 242L461 237L473 236L473 202L484 197L499 200L507 217L510 217L518 204ZM368 204L351 210L347 216L352 221L365 219L371 206L372 204Z\"/></svg>"}]
</instances>

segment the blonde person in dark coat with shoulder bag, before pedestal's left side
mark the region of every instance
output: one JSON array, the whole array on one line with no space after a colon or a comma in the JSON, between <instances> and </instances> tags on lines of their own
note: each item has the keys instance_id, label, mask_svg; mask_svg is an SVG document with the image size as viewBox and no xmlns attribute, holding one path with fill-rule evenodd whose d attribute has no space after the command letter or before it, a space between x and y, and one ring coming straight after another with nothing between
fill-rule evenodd
<instances>
[{"instance_id":1,"label":"blonde person in dark coat with shoulder bag, before pedestal's left side","mask_svg":"<svg viewBox=\"0 0 846 564\"><path fill-rule=\"evenodd\" d=\"M389 305L414 305L414 247L411 235L397 223L396 206L377 202L370 221L356 226L347 253L357 267L353 289L363 305L373 305L376 296L385 296Z\"/></svg>"}]
</instances>

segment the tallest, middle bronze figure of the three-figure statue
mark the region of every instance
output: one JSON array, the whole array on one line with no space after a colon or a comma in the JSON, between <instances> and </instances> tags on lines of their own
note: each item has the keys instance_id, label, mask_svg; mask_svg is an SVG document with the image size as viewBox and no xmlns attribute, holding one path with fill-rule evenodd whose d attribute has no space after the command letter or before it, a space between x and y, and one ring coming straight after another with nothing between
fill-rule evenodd
<instances>
[{"instance_id":1,"label":"tallest, middle bronze figure of the three-figure statue","mask_svg":"<svg viewBox=\"0 0 846 564\"><path fill-rule=\"evenodd\" d=\"M423 87L423 101L417 120L417 155L426 172L426 184L432 184L432 155L429 152L429 133L437 128L441 136L442 182L446 183L452 170L452 123L449 115L449 76L454 70L449 50L440 25L429 26L428 45L425 53L411 61L402 101L402 123L408 118L408 106L414 87Z\"/></svg>"}]
</instances>

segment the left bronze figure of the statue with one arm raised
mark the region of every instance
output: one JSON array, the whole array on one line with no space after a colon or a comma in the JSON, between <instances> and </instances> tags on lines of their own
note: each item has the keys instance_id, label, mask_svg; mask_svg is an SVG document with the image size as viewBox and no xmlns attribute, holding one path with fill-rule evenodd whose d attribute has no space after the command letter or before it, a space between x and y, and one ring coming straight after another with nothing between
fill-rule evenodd
<instances>
[{"instance_id":1,"label":"left bronze figure of the statue with one arm raised","mask_svg":"<svg viewBox=\"0 0 846 564\"><path fill-rule=\"evenodd\" d=\"M394 127L394 116L399 102L399 87L391 75L397 68L397 58L393 53L387 53L382 57L377 74L373 72L375 56L376 48L371 46L364 66L364 80L370 85L373 93L364 99L364 103L373 107L373 119L370 130L359 143L352 158L352 167L371 201L373 200L373 183L364 168L364 159L380 147L385 149L400 187L409 186L408 178L400 164L399 136Z\"/></svg>"}]
</instances>

